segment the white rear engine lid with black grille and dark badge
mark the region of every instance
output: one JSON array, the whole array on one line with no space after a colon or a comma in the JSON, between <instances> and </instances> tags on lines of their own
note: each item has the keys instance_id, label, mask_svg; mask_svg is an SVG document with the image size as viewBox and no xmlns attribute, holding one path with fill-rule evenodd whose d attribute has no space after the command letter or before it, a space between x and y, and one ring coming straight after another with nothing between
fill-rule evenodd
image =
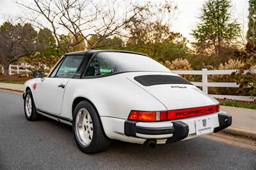
<instances>
[{"instance_id":1,"label":"white rear engine lid with black grille and dark badge","mask_svg":"<svg viewBox=\"0 0 256 170\"><path fill-rule=\"evenodd\" d=\"M215 105L218 101L174 73L141 72L127 75L168 110Z\"/></svg>"}]
</instances>

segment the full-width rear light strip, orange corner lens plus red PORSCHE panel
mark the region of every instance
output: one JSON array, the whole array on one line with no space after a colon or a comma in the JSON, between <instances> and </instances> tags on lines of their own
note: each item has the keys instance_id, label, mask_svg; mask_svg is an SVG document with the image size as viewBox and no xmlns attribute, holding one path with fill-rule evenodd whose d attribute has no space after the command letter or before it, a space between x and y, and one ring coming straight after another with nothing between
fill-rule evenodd
<instances>
[{"instance_id":1,"label":"full-width rear light strip, orange corner lens plus red PORSCHE panel","mask_svg":"<svg viewBox=\"0 0 256 170\"><path fill-rule=\"evenodd\" d=\"M210 114L220 111L220 105L208 105L172 111L131 111L128 120L134 121L164 121L189 118L202 114Z\"/></svg>"}]
</instances>

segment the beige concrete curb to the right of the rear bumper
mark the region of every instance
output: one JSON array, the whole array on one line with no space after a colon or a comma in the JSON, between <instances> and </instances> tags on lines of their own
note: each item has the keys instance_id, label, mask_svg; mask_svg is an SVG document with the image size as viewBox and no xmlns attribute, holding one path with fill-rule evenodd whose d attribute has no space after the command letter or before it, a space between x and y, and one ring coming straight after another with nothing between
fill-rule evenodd
<instances>
[{"instance_id":1,"label":"beige concrete curb to the right of the rear bumper","mask_svg":"<svg viewBox=\"0 0 256 170\"><path fill-rule=\"evenodd\" d=\"M256 141L256 132L253 130L247 130L244 128L228 127L221 130L223 134L234 135L237 137L245 137Z\"/></svg>"}]
</instances>

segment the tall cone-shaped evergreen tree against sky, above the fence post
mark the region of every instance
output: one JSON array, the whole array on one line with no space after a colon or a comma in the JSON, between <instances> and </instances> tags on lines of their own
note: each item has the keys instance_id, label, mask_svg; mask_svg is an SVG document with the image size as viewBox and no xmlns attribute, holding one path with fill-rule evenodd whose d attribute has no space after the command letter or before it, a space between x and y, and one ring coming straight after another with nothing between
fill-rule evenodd
<instances>
[{"instance_id":1,"label":"tall cone-shaped evergreen tree against sky, above the fence post","mask_svg":"<svg viewBox=\"0 0 256 170\"><path fill-rule=\"evenodd\" d=\"M228 0L208 0L202 8L200 23L193 30L196 47L200 52L215 52L221 50L236 40L240 26L236 20L231 20L231 4Z\"/></svg>"}]
</instances>

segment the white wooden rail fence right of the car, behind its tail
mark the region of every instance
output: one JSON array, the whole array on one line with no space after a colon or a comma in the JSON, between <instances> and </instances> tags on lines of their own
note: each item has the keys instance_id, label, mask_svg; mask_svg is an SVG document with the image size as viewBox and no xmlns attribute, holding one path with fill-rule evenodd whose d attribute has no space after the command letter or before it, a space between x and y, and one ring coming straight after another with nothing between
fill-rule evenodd
<instances>
[{"instance_id":1,"label":"white wooden rail fence right of the car, behind its tail","mask_svg":"<svg viewBox=\"0 0 256 170\"><path fill-rule=\"evenodd\" d=\"M204 93L208 94L208 87L216 88L239 88L239 85L236 82L208 82L207 75L230 75L232 72L237 70L207 70L203 68L202 70L172 70L172 72L180 75L202 75L202 82L192 82L195 86L202 87ZM244 72L246 73L246 72ZM253 73L256 73L256 70L253 70ZM255 74L256 76L256 74ZM234 95L210 95L215 98L229 98L234 100L243 100L243 101L254 101L256 97L250 96L234 96Z\"/></svg>"}]
</instances>

